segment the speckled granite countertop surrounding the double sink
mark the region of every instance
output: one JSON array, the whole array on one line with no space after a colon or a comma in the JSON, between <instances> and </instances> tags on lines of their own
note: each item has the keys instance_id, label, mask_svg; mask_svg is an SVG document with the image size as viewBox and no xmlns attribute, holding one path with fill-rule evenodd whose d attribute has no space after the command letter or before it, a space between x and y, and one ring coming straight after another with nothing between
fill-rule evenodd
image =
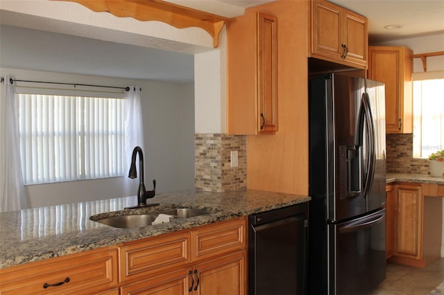
<instances>
[{"instance_id":1,"label":"speckled granite countertop surrounding the double sink","mask_svg":"<svg viewBox=\"0 0 444 295\"><path fill-rule=\"evenodd\" d=\"M158 213L169 208L182 207L210 211L211 214L183 219L174 218L168 223L138 229L117 229L89 220L92 215L122 211L125 207L135 206L136 197L0 213L0 269L182 229L191 229L309 200L310 197L307 196L260 190L230 193L184 190L163 193L156 195L153 199L148 199L148 204L160 203L159 206L135 209L135 212L138 214Z\"/></svg>"}]
</instances>

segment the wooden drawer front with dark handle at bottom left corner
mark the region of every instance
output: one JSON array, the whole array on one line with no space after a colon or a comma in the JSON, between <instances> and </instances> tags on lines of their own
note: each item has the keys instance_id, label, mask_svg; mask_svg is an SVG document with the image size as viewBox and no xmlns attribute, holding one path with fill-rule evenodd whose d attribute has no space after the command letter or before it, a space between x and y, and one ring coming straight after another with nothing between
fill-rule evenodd
<instances>
[{"instance_id":1,"label":"wooden drawer front with dark handle at bottom left corner","mask_svg":"<svg viewBox=\"0 0 444 295\"><path fill-rule=\"evenodd\" d=\"M1 273L1 294L97 294L117 286L117 250L54 258Z\"/></svg>"}]
</instances>

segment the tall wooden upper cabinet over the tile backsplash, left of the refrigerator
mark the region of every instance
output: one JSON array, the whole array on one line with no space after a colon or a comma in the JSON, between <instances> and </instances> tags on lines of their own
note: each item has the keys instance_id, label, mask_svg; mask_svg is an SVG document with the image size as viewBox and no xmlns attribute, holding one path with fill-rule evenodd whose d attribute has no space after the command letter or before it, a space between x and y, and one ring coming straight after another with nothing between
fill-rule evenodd
<instances>
[{"instance_id":1,"label":"tall wooden upper cabinet over the tile backsplash, left of the refrigerator","mask_svg":"<svg viewBox=\"0 0 444 295\"><path fill-rule=\"evenodd\" d=\"M278 19L246 12L227 36L228 134L278 131Z\"/></svg>"}]
</instances>

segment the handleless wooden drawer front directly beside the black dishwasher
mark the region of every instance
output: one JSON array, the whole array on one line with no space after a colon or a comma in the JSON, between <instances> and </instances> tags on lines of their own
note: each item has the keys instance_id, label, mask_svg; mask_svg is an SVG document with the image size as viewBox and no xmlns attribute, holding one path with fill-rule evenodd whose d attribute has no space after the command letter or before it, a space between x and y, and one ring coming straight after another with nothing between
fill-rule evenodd
<instances>
[{"instance_id":1,"label":"handleless wooden drawer front directly beside the black dishwasher","mask_svg":"<svg viewBox=\"0 0 444 295\"><path fill-rule=\"evenodd\" d=\"M197 261L246 248L246 218L191 231L193 251L191 260Z\"/></svg>"}]
</instances>

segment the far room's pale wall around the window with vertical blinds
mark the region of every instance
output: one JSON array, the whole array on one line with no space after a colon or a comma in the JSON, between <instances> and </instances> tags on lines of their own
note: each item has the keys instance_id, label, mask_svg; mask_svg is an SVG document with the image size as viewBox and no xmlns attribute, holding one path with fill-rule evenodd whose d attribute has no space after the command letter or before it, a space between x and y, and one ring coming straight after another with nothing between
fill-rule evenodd
<instances>
[{"instance_id":1,"label":"far room's pale wall around the window with vertical blinds","mask_svg":"<svg viewBox=\"0 0 444 295\"><path fill-rule=\"evenodd\" d=\"M0 68L1 77L142 87L146 189L156 179L158 193L194 188L194 85L126 80L67 73ZM128 168L129 169L129 168ZM127 177L127 175L124 175ZM133 195L139 179L135 179ZM70 204L123 195L122 178L26 186L31 207Z\"/></svg>"}]
</instances>

